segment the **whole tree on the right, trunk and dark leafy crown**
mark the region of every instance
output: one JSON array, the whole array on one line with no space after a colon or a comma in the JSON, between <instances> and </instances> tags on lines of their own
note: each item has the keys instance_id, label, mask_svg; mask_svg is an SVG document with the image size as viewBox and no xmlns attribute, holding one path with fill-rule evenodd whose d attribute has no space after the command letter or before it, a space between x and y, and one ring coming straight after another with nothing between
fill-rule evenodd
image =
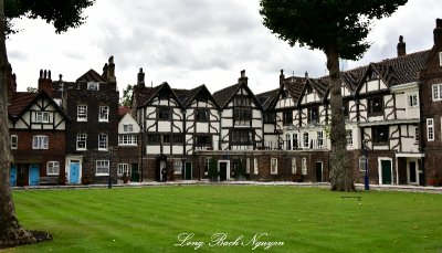
<instances>
[{"instance_id":1,"label":"whole tree on the right, trunk and dark leafy crown","mask_svg":"<svg viewBox=\"0 0 442 253\"><path fill-rule=\"evenodd\" d=\"M358 60L375 19L391 15L407 0L261 0L263 23L294 46L317 49L327 56L330 93L332 190L354 191L343 114L339 57Z\"/></svg>"}]
</instances>

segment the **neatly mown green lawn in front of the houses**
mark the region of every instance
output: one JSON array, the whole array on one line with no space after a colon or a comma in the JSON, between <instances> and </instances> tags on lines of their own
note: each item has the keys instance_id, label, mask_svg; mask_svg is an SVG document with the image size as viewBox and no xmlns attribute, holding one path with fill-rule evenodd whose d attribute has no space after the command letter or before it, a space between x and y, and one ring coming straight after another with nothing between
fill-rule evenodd
<instances>
[{"instance_id":1,"label":"neatly mown green lawn in front of the houses","mask_svg":"<svg viewBox=\"0 0 442 253\"><path fill-rule=\"evenodd\" d=\"M18 190L13 198L21 224L54 240L6 252L264 252L264 241L284 244L265 252L442 252L442 194L171 186ZM175 245L181 233L203 245ZM215 233L227 238L209 245Z\"/></svg>"}]
</instances>

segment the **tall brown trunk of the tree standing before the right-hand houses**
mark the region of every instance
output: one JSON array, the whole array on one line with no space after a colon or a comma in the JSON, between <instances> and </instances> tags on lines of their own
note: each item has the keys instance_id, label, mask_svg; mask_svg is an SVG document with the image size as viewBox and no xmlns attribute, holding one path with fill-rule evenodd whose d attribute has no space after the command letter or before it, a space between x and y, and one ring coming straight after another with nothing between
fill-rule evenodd
<instances>
[{"instance_id":1,"label":"tall brown trunk of the tree standing before the right-hand houses","mask_svg":"<svg viewBox=\"0 0 442 253\"><path fill-rule=\"evenodd\" d=\"M355 191L352 168L347 152L347 138L343 112L339 55L336 46L326 50L327 68L330 76L330 183L334 191Z\"/></svg>"}]
</instances>

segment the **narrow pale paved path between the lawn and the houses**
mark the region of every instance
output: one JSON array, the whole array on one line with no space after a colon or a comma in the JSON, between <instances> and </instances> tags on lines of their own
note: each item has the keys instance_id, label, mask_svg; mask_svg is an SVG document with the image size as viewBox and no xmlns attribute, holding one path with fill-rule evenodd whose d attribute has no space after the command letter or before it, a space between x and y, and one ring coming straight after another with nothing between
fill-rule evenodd
<instances>
[{"instance_id":1,"label":"narrow pale paved path between the lawn and the houses","mask_svg":"<svg viewBox=\"0 0 442 253\"><path fill-rule=\"evenodd\" d=\"M274 181L274 182L260 182L260 181L222 181L209 182L208 180L187 180L187 181L168 181L168 182L130 182L126 185L112 185L113 188L123 187L165 187L165 186L207 186L207 185L231 185L231 186L293 186L293 187L320 187L328 188L328 182L290 182L290 181ZM71 186L38 186L38 187L13 187L17 190L33 190L33 189L88 189L88 188L107 188L107 185L71 185ZM364 190L362 183L356 183L358 190ZM417 187L417 186L383 186L370 185L370 190L389 190L389 191L410 191L410 192L429 192L442 193L442 187Z\"/></svg>"}]
</instances>

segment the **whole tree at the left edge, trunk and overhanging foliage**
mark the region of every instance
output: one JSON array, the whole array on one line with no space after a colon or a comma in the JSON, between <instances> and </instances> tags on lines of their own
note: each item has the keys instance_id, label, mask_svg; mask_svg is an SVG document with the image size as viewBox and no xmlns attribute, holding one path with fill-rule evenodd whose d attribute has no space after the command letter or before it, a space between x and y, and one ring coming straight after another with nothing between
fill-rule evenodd
<instances>
[{"instance_id":1,"label":"whole tree at the left edge, trunk and overhanging foliage","mask_svg":"<svg viewBox=\"0 0 442 253\"><path fill-rule=\"evenodd\" d=\"M0 0L0 249L35 242L33 233L25 231L17 220L9 182L12 161L8 129L8 62L6 38L17 32L12 22L17 18L43 19L52 23L56 33L81 25L83 9L94 0Z\"/></svg>"}]
</instances>

